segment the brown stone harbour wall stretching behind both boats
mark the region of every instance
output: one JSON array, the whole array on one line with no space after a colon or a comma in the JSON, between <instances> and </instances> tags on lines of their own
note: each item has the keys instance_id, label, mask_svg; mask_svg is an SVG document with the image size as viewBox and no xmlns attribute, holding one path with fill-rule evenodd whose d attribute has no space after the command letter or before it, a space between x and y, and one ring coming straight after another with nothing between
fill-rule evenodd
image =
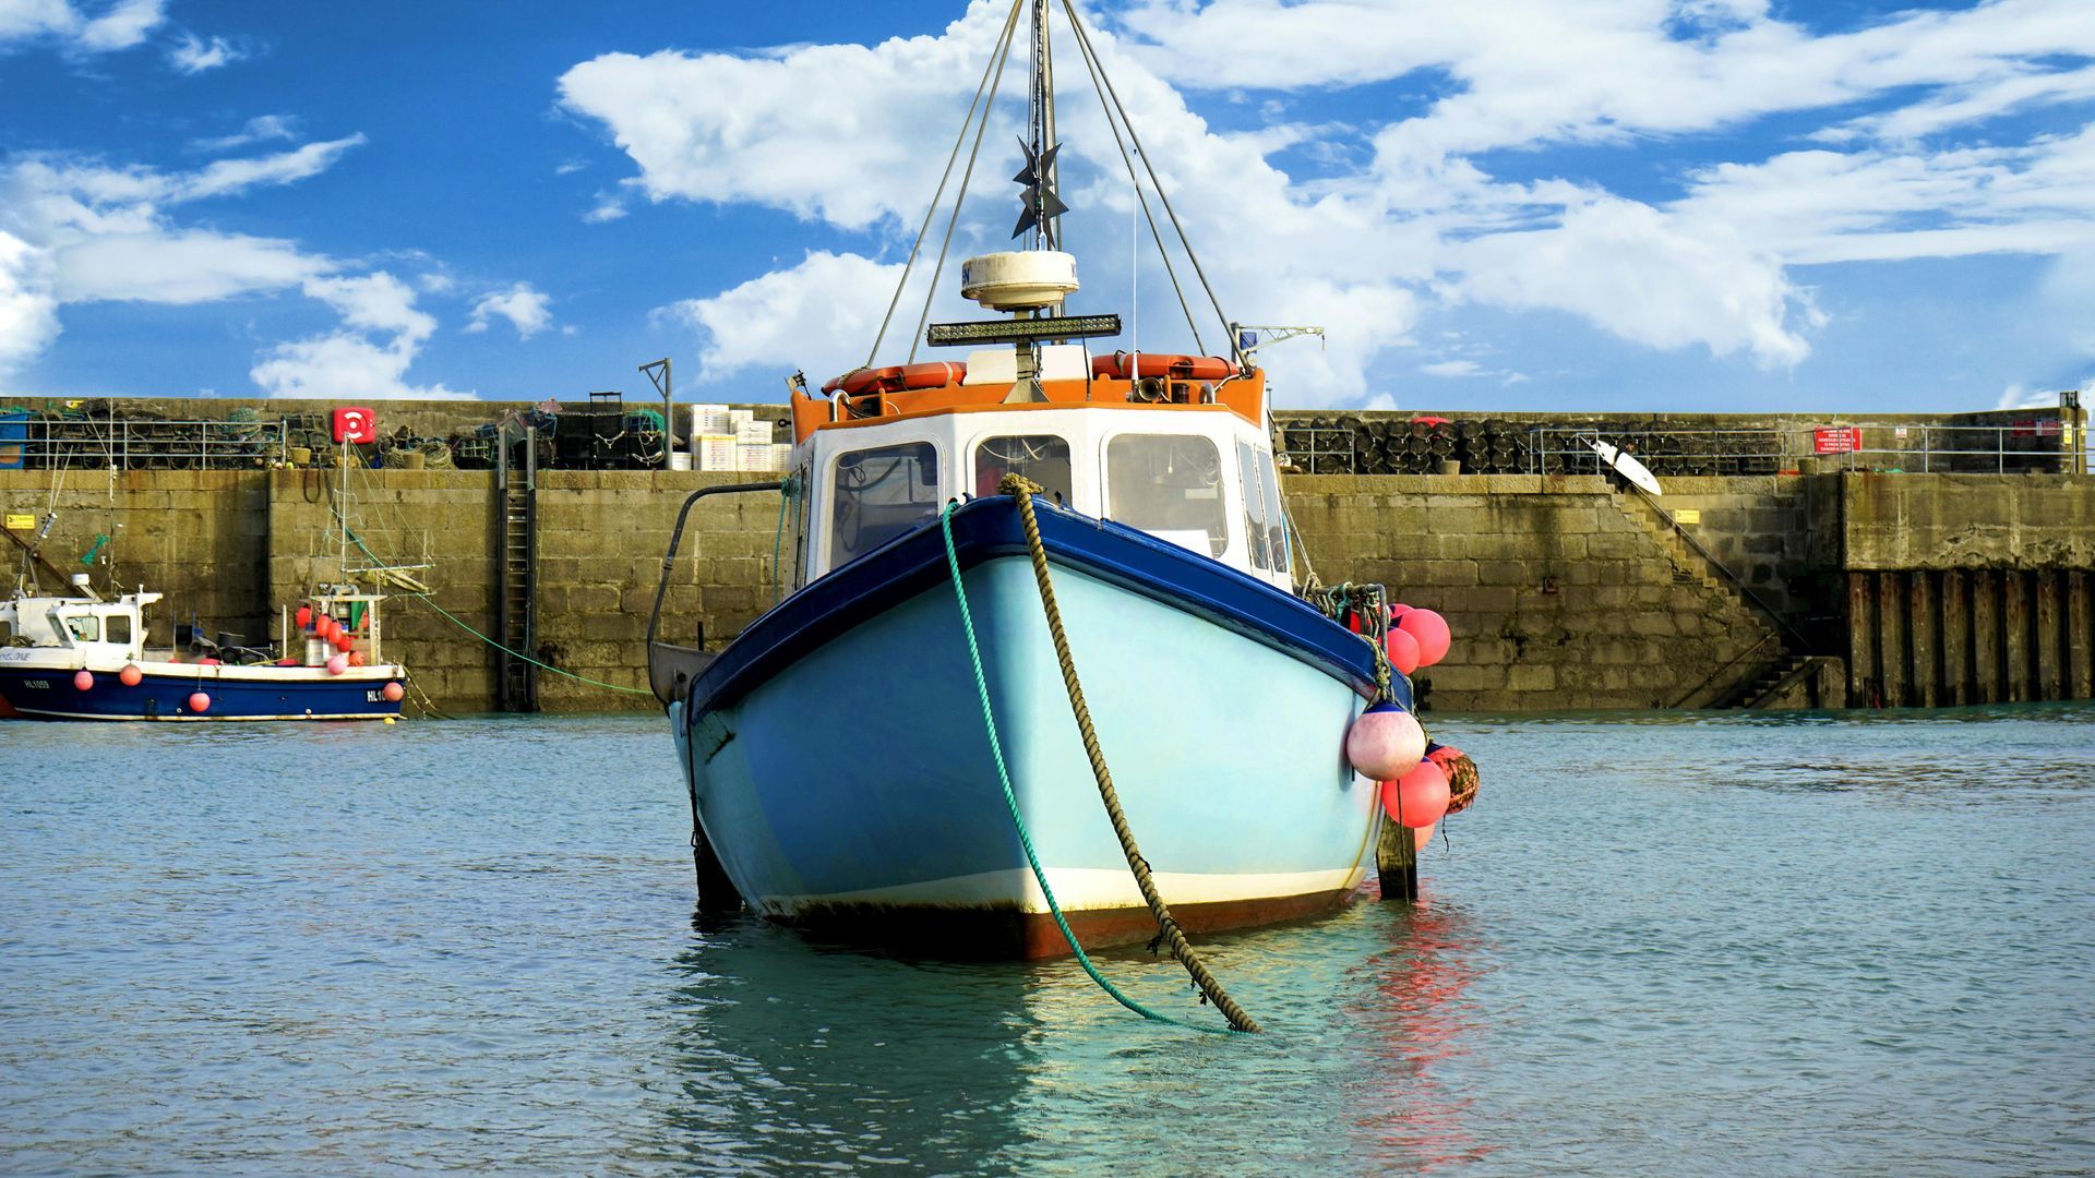
<instances>
[{"instance_id":1,"label":"brown stone harbour wall stretching behind both boats","mask_svg":"<svg viewBox=\"0 0 2095 1178\"><path fill-rule=\"evenodd\" d=\"M339 562L335 478L0 472L0 507L38 524L57 509L42 555L61 572L84 568L94 539L111 537L96 583L166 593L157 643L191 618L274 637L279 606ZM645 688L647 610L677 505L744 478L538 472L532 654ZM1379 581L1450 618L1454 652L1418 675L1433 708L2095 698L2095 478L1676 478L1663 511L1598 476L1291 476L1286 495L1324 583ZM350 516L385 560L427 564L429 599L390 604L388 656L448 711L492 706L494 652L461 629L497 627L492 474L358 470ZM666 602L670 625L696 623L719 648L763 612L777 593L773 551L792 560L777 528L773 495L702 501ZM19 560L23 547L0 543L0 553ZM52 568L38 572L52 583ZM654 700L541 675L538 704Z\"/></svg>"}]
</instances>

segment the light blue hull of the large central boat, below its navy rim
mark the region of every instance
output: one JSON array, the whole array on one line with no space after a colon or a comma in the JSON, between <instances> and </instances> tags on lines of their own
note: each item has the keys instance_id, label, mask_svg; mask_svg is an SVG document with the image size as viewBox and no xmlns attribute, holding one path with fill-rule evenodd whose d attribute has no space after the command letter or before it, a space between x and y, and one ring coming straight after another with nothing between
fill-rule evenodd
<instances>
[{"instance_id":1,"label":"light blue hull of the large central boat, below its navy rim","mask_svg":"<svg viewBox=\"0 0 2095 1178\"><path fill-rule=\"evenodd\" d=\"M1192 912L1186 924L1263 922L1349 895L1376 824L1376 788L1343 752L1364 706L1355 690L1083 570L1058 566L1054 579L1121 805L1165 899ZM1058 903L1108 937L1112 914L1133 914L1127 931L1146 937L1031 566L995 558L966 585L1012 786ZM758 912L1045 912L997 786L949 583L867 616L696 725L672 721L689 740L679 755L696 765L698 817Z\"/></svg>"}]
</instances>

